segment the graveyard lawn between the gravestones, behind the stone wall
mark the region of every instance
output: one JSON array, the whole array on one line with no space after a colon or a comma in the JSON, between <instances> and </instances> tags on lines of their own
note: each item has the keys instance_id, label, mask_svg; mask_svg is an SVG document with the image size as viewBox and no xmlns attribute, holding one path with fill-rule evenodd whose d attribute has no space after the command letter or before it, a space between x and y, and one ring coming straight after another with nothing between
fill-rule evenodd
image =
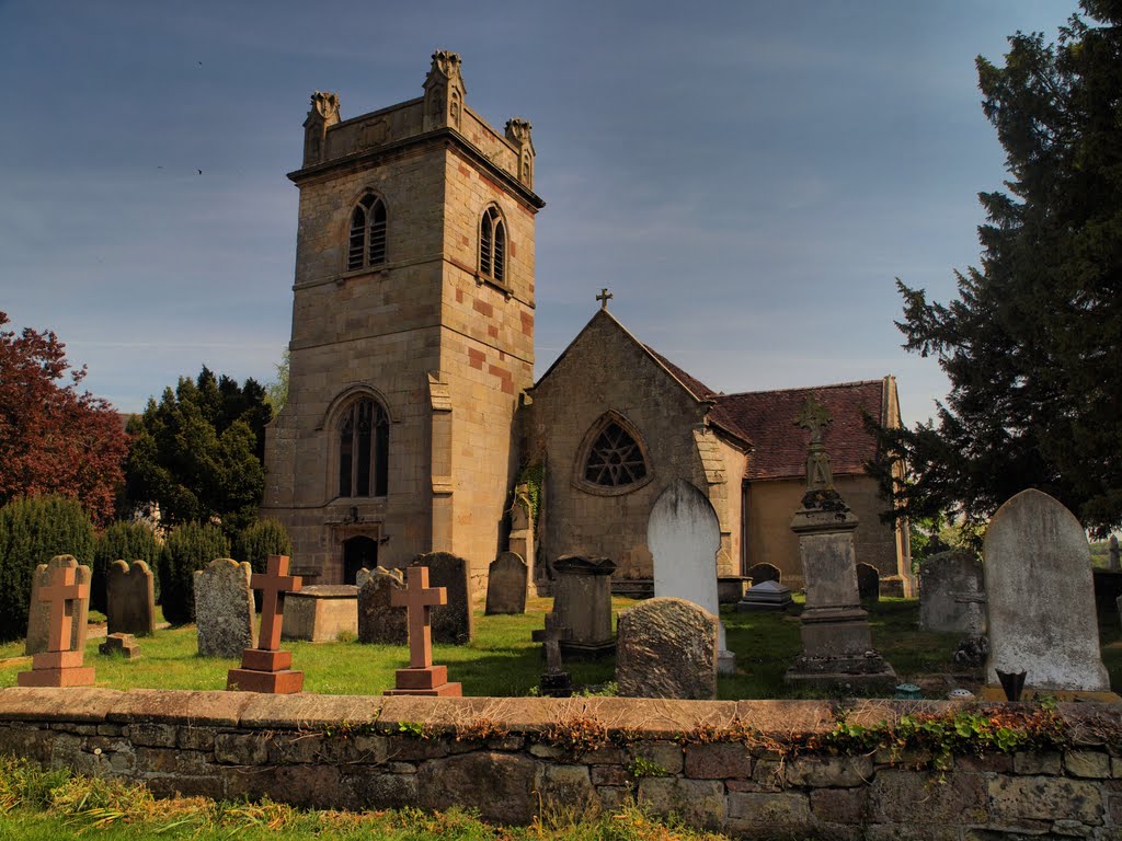
<instances>
[{"instance_id":1,"label":"graveyard lawn between the gravestones, behind the stone wall","mask_svg":"<svg viewBox=\"0 0 1122 841\"><path fill-rule=\"evenodd\" d=\"M616 613L634 604L613 599ZM531 694L545 669L541 646L531 641L531 631L543 627L549 599L532 599L525 614L484 616L476 611L476 639L469 646L434 645L433 660L449 667L451 680L463 684L466 695L517 696ZM919 603L910 599L882 599L870 609L873 641L893 665L901 682L919 683L927 697L945 697L951 685L967 686L981 677L978 671L956 667L953 654L958 643L954 634L918 630ZM783 673L801 650L798 611L789 613L737 613L725 610L721 619L728 646L737 655L738 674L721 677L721 699L775 699L822 696L822 693L792 691L783 685ZM93 614L94 619L100 619ZM1111 686L1122 691L1122 626L1114 614L1100 625L1103 660ZM126 660L98 653L101 640L86 644L86 665L96 668L96 685L119 690L180 688L223 690L227 672L237 659L197 656L194 626L157 631L139 638L141 658ZM405 646L364 645L353 640L303 643L285 640L282 648L293 651L293 667L304 672L304 690L331 695L380 695L394 686L394 672L408 665ZM22 657L24 644L0 646L0 687L15 686L16 675L30 668ZM615 660L579 663L567 660L576 684L604 686L614 677ZM954 675L951 683L940 676ZM957 681L956 681L957 678ZM608 685L610 691L610 685Z\"/></svg>"}]
</instances>

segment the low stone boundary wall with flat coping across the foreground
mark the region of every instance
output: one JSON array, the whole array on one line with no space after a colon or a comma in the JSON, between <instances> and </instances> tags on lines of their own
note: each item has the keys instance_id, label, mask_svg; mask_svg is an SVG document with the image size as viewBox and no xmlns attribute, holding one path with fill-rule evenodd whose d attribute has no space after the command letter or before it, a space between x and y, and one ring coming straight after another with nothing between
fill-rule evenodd
<instances>
[{"instance_id":1,"label":"low stone boundary wall with flat coping across the foreground","mask_svg":"<svg viewBox=\"0 0 1122 841\"><path fill-rule=\"evenodd\" d=\"M955 709L864 702L846 721ZM770 749L833 730L836 710L818 701L6 688L0 750L140 780L162 796L461 805L503 823L595 814L635 797L744 838L1122 838L1122 711L1061 704L1059 714L1074 736L1069 749L956 756L935 770L918 755L783 759ZM734 726L755 737L729 740ZM1102 743L1107 732L1111 745Z\"/></svg>"}]
</instances>

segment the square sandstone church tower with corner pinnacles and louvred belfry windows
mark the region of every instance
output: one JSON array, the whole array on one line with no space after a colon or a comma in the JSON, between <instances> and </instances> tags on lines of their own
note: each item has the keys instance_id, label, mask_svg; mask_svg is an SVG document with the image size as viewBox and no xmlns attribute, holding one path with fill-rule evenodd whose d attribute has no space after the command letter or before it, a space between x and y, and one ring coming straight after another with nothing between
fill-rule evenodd
<instances>
[{"instance_id":1,"label":"square sandstone church tower with corner pinnacles and louvred belfry windows","mask_svg":"<svg viewBox=\"0 0 1122 841\"><path fill-rule=\"evenodd\" d=\"M468 108L440 50L424 95L304 121L288 400L267 429L263 517L293 572L352 583L423 552L500 548L517 471L514 416L533 385L531 127Z\"/></svg>"}]
</instances>

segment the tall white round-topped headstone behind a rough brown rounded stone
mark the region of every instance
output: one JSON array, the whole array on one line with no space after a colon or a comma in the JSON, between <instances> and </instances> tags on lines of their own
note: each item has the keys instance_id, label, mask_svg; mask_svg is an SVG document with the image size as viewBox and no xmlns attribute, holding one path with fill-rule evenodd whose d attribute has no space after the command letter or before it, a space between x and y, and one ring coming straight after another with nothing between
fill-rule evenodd
<instances>
[{"instance_id":1,"label":"tall white round-topped headstone behind a rough brown rounded stone","mask_svg":"<svg viewBox=\"0 0 1122 841\"><path fill-rule=\"evenodd\" d=\"M646 545L654 556L654 594L684 599L720 616L717 598L717 551L720 523L706 496L681 479L668 487L651 509ZM736 655L727 650L718 619L718 667L736 674Z\"/></svg>"}]
</instances>

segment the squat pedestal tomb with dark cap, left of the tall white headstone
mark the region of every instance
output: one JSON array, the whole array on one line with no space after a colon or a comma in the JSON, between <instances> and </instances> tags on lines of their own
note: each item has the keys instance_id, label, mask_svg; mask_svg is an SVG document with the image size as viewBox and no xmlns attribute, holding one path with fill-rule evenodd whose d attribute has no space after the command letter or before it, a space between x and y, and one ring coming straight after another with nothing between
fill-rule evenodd
<instances>
[{"instance_id":1,"label":"squat pedestal tomb with dark cap, left of the tall white headstone","mask_svg":"<svg viewBox=\"0 0 1122 841\"><path fill-rule=\"evenodd\" d=\"M606 557L564 555L553 564L553 612L565 636L559 645L567 657L600 657L616 649L611 631L611 573Z\"/></svg>"}]
</instances>

